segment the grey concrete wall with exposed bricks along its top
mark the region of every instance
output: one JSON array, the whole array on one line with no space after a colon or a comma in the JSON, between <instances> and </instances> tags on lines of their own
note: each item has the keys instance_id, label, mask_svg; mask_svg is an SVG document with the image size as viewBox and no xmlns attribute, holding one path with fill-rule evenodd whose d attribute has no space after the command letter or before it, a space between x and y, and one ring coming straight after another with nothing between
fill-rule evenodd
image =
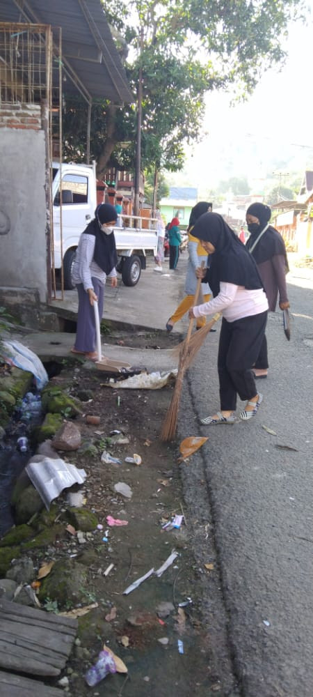
<instances>
[{"instance_id":1,"label":"grey concrete wall with exposed bricks along its top","mask_svg":"<svg viewBox=\"0 0 313 697\"><path fill-rule=\"evenodd\" d=\"M40 106L0 109L0 286L47 300L45 132Z\"/></svg>"}]
</instances>

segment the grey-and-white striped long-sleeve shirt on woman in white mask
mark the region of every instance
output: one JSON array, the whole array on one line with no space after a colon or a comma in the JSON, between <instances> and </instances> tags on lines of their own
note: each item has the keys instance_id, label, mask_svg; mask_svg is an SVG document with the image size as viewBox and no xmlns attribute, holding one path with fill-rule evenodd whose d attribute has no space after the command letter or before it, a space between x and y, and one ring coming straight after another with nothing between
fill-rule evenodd
<instances>
[{"instance_id":1,"label":"grey-and-white striped long-sleeve shirt on woman in white mask","mask_svg":"<svg viewBox=\"0 0 313 697\"><path fill-rule=\"evenodd\" d=\"M95 236L82 234L76 250L75 261L73 264L72 279L75 284L82 283L85 291L93 288L91 277L99 279L103 285L106 282L106 273L102 271L93 259L95 252ZM116 269L113 268L109 276L116 276Z\"/></svg>"}]
</instances>

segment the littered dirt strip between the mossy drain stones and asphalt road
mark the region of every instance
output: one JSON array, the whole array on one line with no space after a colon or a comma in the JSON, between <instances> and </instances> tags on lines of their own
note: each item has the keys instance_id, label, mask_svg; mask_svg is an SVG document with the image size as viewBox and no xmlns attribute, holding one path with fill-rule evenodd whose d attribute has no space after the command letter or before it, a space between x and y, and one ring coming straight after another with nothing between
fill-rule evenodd
<instances>
[{"instance_id":1,"label":"littered dirt strip between the mossy drain stones and asphalt road","mask_svg":"<svg viewBox=\"0 0 313 697\"><path fill-rule=\"evenodd\" d=\"M161 332L159 335L115 332L114 337L105 340L157 349L172 345L179 337L167 337ZM103 530L96 530L83 545L67 539L58 546L58 557L74 553L79 561L83 555L89 567L86 604L98 604L79 620L78 645L64 673L70 694L73 697L225 694L214 668L209 628L202 626L203 579L212 573L214 564L211 569L200 568L195 560L179 477L178 443L168 445L159 437L172 387L157 391L112 389L105 386L102 372L86 369L81 360L65 362L51 383L70 388L70 394L75 396L83 390L92 393L92 399L83 403L83 414L75 423L83 442L96 445L98 454L86 457L77 451L69 453L67 459L86 470L85 505L95 512L103 526ZM98 416L99 425L88 424L86 415ZM129 443L113 445L110 434L115 430L122 431ZM104 464L100 459L104 450L120 459L121 464ZM133 457L134 453L140 455L140 465L125 462L125 457ZM192 466L192 459L190 463ZM129 485L130 500L114 491L117 482ZM62 505L62 497L58 503ZM182 527L163 530L162 525L175 514L184 514ZM106 523L108 515L126 520L127 526L110 528ZM160 578L152 575L129 595L123 595L133 581L152 567L158 569L173 550L178 556ZM208 556L207 563L210 562ZM110 564L113 568L104 576ZM164 618L157 613L161 602L173 606ZM179 607L180 603L184 606ZM183 653L179 652L179 642ZM94 688L88 687L83 675L97 659L104 643L125 661L127 678L109 675Z\"/></svg>"}]
</instances>

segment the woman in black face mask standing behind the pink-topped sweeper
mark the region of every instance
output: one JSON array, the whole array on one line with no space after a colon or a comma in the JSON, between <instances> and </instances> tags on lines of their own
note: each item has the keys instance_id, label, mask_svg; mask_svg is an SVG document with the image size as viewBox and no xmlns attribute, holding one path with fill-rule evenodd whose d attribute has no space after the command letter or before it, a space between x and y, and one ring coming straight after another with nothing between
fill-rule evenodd
<instances>
[{"instance_id":1,"label":"woman in black face mask standing behind the pink-topped sweeper","mask_svg":"<svg viewBox=\"0 0 313 697\"><path fill-rule=\"evenodd\" d=\"M278 293L280 309L289 307L286 273L289 271L286 248L280 233L271 227L271 208L264 204L251 204L246 212L250 238L246 247L254 257L262 278L268 300L268 308L275 312ZM266 378L268 371L266 336L255 361L256 378Z\"/></svg>"}]
</instances>

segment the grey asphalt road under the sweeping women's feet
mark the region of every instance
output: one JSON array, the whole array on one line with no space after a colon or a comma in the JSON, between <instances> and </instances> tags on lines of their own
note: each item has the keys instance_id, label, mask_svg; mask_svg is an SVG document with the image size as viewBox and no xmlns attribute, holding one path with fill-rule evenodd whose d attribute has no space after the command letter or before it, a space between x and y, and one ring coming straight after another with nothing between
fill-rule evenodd
<instances>
[{"instance_id":1,"label":"grey asphalt road under the sweeping women's feet","mask_svg":"<svg viewBox=\"0 0 313 697\"><path fill-rule=\"evenodd\" d=\"M270 370L257 382L264 401L254 419L198 424L219 406L218 332L209 334L182 397L179 436L209 436L182 475L196 554L214 560L204 612L224 694L313 694L312 280L312 271L291 276L290 342L282 313L268 319Z\"/></svg>"}]
</instances>

